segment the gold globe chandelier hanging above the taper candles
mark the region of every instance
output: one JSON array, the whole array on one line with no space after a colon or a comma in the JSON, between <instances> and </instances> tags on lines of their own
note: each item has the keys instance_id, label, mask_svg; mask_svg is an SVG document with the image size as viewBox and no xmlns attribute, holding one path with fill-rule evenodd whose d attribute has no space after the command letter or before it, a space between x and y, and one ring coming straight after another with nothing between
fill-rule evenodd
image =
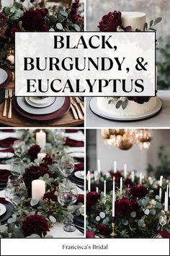
<instances>
[{"instance_id":1,"label":"gold globe chandelier hanging above the taper candles","mask_svg":"<svg viewBox=\"0 0 170 256\"><path fill-rule=\"evenodd\" d=\"M104 143L121 150L128 150L137 144L140 150L148 149L152 140L148 129L102 129Z\"/></svg>"}]
</instances>

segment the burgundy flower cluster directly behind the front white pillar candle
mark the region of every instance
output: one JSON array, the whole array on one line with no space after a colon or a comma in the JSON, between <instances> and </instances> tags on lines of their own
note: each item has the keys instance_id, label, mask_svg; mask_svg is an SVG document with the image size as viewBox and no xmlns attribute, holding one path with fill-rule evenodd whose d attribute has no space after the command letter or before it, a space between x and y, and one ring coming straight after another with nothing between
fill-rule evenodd
<instances>
[{"instance_id":1,"label":"burgundy flower cluster directly behind the front white pillar candle","mask_svg":"<svg viewBox=\"0 0 170 256\"><path fill-rule=\"evenodd\" d=\"M34 179L39 179L40 176L44 176L45 174L49 174L49 176L51 176L48 166L31 166L30 168L26 169L25 173L23 174L23 179L27 187L29 197L31 197L32 181Z\"/></svg>"}]
</instances>

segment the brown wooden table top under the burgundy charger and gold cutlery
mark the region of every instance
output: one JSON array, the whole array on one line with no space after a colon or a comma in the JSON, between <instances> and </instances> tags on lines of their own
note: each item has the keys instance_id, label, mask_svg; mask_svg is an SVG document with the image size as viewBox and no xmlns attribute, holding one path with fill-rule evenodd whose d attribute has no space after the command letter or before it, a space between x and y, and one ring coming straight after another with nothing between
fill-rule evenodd
<instances>
[{"instance_id":1,"label":"brown wooden table top under the burgundy charger and gold cutlery","mask_svg":"<svg viewBox=\"0 0 170 256\"><path fill-rule=\"evenodd\" d=\"M9 82L6 88L14 90L14 82ZM78 127L84 124L84 120L75 120L71 109L61 118L50 121L34 121L21 116L12 108L12 119L2 116L4 103L0 105L0 126L1 124L8 127ZM9 99L7 100L7 111L9 109Z\"/></svg>"}]
</instances>

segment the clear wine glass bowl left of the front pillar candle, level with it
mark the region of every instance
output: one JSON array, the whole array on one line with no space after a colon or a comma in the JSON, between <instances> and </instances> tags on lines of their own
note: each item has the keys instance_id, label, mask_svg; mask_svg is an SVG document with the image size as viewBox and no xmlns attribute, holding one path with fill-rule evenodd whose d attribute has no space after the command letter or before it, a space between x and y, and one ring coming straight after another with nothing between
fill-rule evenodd
<instances>
[{"instance_id":1,"label":"clear wine glass bowl left of the front pillar candle, level with it","mask_svg":"<svg viewBox=\"0 0 170 256\"><path fill-rule=\"evenodd\" d=\"M6 184L5 196L16 206L25 199L27 196L27 189L21 176L9 176Z\"/></svg>"}]
</instances>

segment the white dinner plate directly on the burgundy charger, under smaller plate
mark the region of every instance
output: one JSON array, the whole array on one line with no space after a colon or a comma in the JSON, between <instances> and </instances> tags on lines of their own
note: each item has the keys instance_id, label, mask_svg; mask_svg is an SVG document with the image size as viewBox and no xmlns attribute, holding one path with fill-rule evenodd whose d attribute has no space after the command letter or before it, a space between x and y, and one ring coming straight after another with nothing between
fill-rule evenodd
<instances>
[{"instance_id":1,"label":"white dinner plate directly on the burgundy charger, under smaller plate","mask_svg":"<svg viewBox=\"0 0 170 256\"><path fill-rule=\"evenodd\" d=\"M65 97L56 97L56 100L52 105L46 108L35 108L27 105L27 103L24 101L24 97L17 97L17 104L20 108L22 108L22 110L26 111L29 114L45 115L51 114L61 108L63 106L64 100Z\"/></svg>"}]
</instances>

